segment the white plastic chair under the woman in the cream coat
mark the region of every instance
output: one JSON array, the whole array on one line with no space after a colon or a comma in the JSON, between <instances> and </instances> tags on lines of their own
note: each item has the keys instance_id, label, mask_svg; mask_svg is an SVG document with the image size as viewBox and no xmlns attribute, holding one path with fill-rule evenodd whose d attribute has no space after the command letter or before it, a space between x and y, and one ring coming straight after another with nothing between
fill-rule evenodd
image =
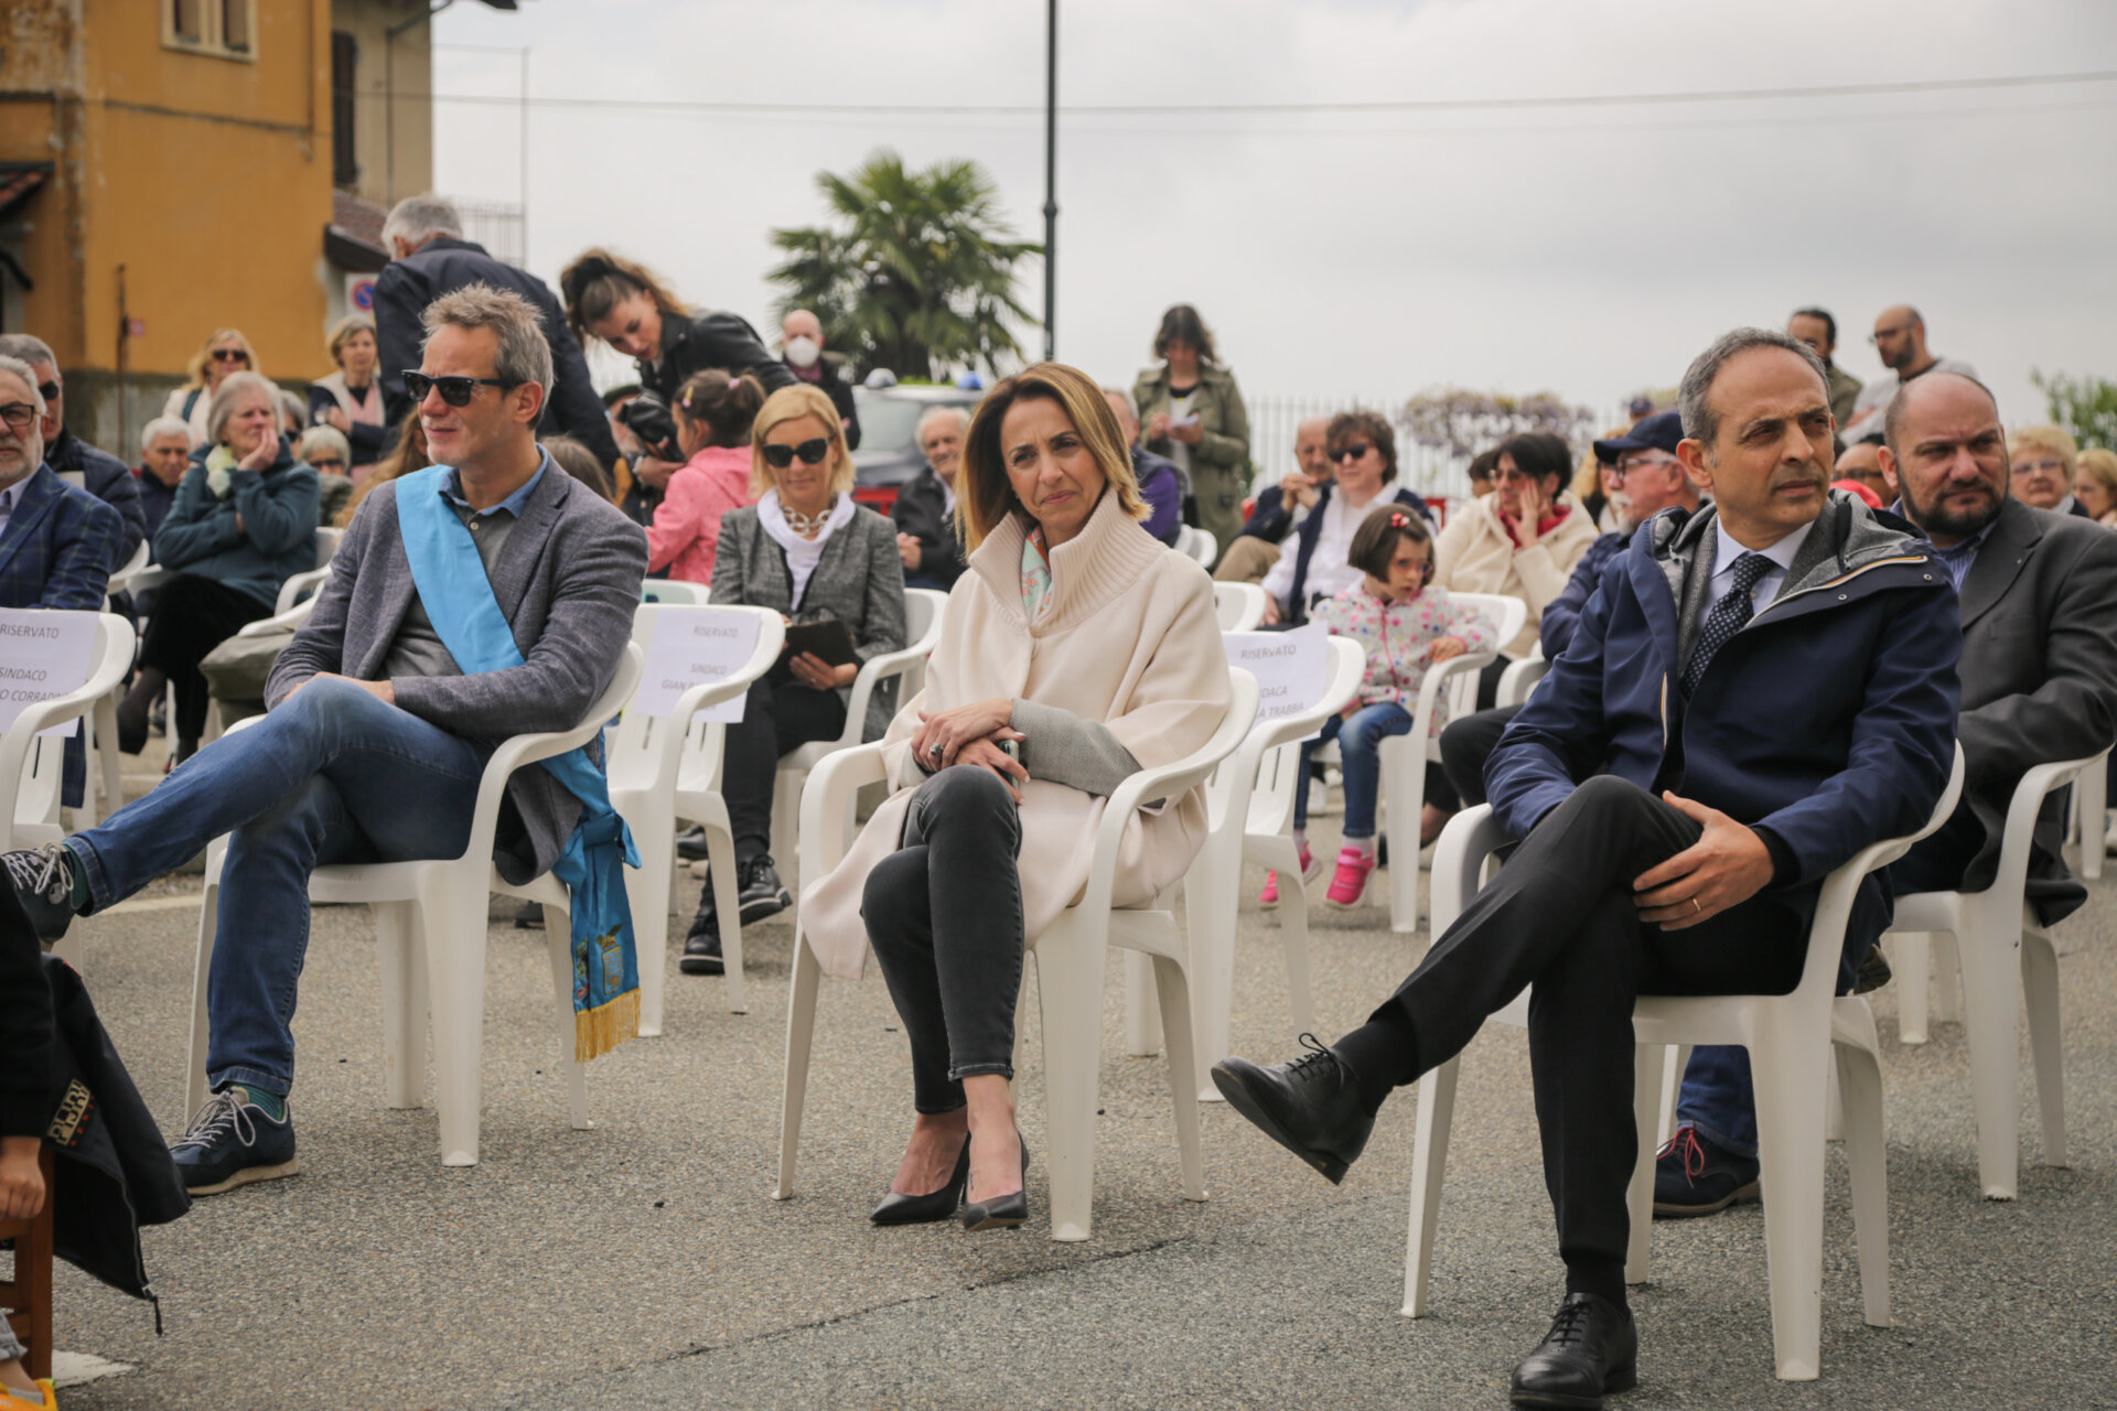
<instances>
[{"instance_id":1,"label":"white plastic chair under the woman in the cream coat","mask_svg":"<svg viewBox=\"0 0 2117 1411\"><path fill-rule=\"evenodd\" d=\"M1029 937L1037 963L1044 1011L1044 1163L1050 1172L1052 1240L1086 1240L1094 1199L1094 1102L1103 1064L1103 967L1111 946L1154 956L1154 990L1169 1030L1169 1092L1175 1102L1177 1153L1186 1199L1205 1199L1198 1153L1198 1058L1192 1045L1186 943L1171 910L1175 888L1152 908L1111 908L1124 825L1141 804L1175 798L1211 776L1234 753L1257 715L1257 679L1230 671L1228 715L1196 753L1158 770L1133 774L1103 810L1094 836L1088 884L1075 905L1058 914L1044 935ZM862 785L883 778L879 745L838 751L802 789L800 874L821 878L851 842L849 808ZM773 1199L792 1199L800 1119L809 1096L809 1051L815 1039L815 992L821 979L815 952L794 924L794 986L788 998L785 1096L779 1119L779 1185ZM1027 969L1025 969L1027 990ZM1018 1047L1018 1043L1016 1043Z\"/></svg>"}]
</instances>

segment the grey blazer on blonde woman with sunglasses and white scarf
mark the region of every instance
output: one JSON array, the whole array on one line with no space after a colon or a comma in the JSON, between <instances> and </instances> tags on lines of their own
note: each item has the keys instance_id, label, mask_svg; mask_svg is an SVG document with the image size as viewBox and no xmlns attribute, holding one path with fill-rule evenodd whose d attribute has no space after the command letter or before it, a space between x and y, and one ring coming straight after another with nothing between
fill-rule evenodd
<instances>
[{"instance_id":1,"label":"grey blazer on blonde woman with sunglasses and white scarf","mask_svg":"<svg viewBox=\"0 0 2117 1411\"><path fill-rule=\"evenodd\" d=\"M809 575L800 611L794 611L794 575L788 554L764 525L756 506L720 516L720 548L713 550L713 601L771 607L794 622L836 618L853 635L860 660L904 649L904 561L898 558L898 527L866 506L853 510L845 529L824 542L824 558ZM838 698L849 700L851 688ZM862 736L883 738L898 713L895 681L868 698Z\"/></svg>"}]
</instances>

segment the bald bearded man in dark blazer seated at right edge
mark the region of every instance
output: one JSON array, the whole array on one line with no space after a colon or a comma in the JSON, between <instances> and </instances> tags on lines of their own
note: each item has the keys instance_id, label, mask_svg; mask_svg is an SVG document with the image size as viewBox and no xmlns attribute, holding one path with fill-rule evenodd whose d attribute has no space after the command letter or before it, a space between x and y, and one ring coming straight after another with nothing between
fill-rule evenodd
<instances>
[{"instance_id":1,"label":"bald bearded man in dark blazer seated at right edge","mask_svg":"<svg viewBox=\"0 0 2117 1411\"><path fill-rule=\"evenodd\" d=\"M1962 601L1962 804L1888 872L1897 895L1984 891L1998 872L2007 804L2022 774L2117 738L2117 535L2032 510L2007 493L2007 434L1984 383L1922 377L1888 404L1882 474L1897 514L1933 539ZM2087 901L2058 848L2060 800L2045 800L2028 901L2051 924ZM1852 956L1857 960L1857 956ZM1713 1214L1757 1197L1749 1053L1698 1047L1677 1132L1653 1174L1653 1212Z\"/></svg>"}]
</instances>

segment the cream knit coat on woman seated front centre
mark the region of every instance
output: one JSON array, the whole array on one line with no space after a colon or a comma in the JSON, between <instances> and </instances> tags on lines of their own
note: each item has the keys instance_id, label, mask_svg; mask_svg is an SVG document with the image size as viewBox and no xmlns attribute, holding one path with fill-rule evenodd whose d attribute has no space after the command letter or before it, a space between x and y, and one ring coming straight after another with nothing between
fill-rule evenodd
<instances>
[{"instance_id":1,"label":"cream knit coat on woman seated front centre","mask_svg":"<svg viewBox=\"0 0 2117 1411\"><path fill-rule=\"evenodd\" d=\"M1020 588L1025 533L1027 525L1010 516L970 556L948 594L925 690L883 736L891 798L830 876L804 878L802 933L826 975L857 977L866 960L860 903L868 869L898 848L904 810L927 778L910 757L919 711L995 696L1035 700L1103 721L1141 768L1200 749L1228 713L1228 658L1205 569L1147 537L1105 493L1082 533L1052 550L1052 599L1031 624ZM1103 804L1039 778L1023 789L1027 939L1035 941L1088 884ZM1205 833L1202 789L1141 808L1124 829L1111 901L1154 901L1183 876Z\"/></svg>"}]
</instances>

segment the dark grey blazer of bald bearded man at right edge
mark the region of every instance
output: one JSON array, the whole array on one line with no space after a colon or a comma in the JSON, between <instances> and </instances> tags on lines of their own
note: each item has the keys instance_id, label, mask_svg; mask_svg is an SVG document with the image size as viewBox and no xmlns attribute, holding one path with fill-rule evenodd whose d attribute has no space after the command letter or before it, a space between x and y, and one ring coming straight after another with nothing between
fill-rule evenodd
<instances>
[{"instance_id":1,"label":"dark grey blazer of bald bearded man at right edge","mask_svg":"<svg viewBox=\"0 0 2117 1411\"><path fill-rule=\"evenodd\" d=\"M1982 891L1998 872L2015 785L2037 764L2079 759L2117 740L2117 533L2085 518L2001 506L1962 580L1965 795L1986 842L1962 878ZM2100 766L2098 766L2100 768ZM2089 831L2100 821L2085 825ZM2056 800L2037 823L2028 897L2045 922L2087 899L2060 859Z\"/></svg>"}]
</instances>

